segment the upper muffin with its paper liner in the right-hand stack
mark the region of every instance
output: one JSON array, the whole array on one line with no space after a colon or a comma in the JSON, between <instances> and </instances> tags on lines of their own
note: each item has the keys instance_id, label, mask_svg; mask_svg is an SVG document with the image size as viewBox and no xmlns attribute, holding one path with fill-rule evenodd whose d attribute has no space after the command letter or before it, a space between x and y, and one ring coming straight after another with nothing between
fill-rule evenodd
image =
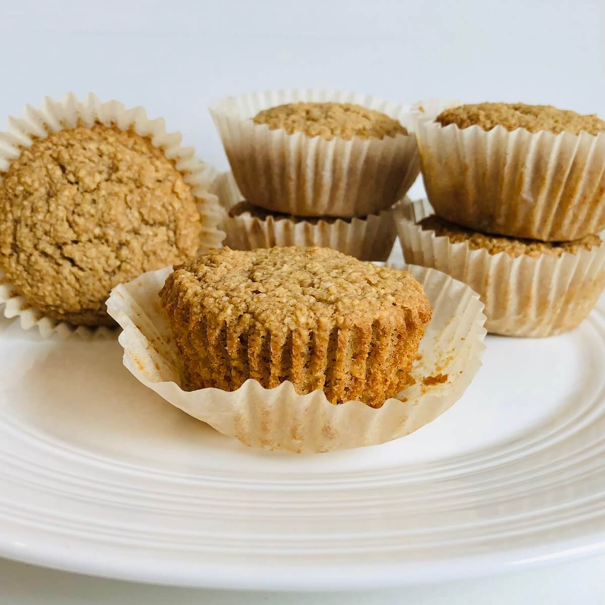
<instances>
[{"instance_id":1,"label":"upper muffin with its paper liner in the right-hand stack","mask_svg":"<svg viewBox=\"0 0 605 605\"><path fill-rule=\"evenodd\" d=\"M479 103L418 120L436 214L476 231L571 241L605 227L605 122L550 105Z\"/></svg>"}]
</instances>

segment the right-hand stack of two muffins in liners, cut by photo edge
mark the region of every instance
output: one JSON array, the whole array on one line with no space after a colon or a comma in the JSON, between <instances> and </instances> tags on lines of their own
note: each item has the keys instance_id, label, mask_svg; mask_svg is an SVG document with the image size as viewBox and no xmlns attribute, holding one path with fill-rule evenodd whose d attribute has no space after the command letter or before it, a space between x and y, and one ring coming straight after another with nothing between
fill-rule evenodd
<instances>
[{"instance_id":1,"label":"right-hand stack of two muffins in liners, cut by photo edge","mask_svg":"<svg viewBox=\"0 0 605 605\"><path fill-rule=\"evenodd\" d=\"M489 332L570 330L605 287L605 122L552 106L460 105L417 120L425 188L397 208L408 262L465 281Z\"/></svg>"}]
</instances>

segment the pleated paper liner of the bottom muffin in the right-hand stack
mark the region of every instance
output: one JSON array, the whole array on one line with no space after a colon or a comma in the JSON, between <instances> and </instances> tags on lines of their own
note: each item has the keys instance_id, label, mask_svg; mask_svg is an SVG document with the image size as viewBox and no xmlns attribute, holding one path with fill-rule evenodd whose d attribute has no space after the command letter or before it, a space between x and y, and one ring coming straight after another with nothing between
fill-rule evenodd
<instances>
[{"instance_id":1,"label":"pleated paper liner of the bottom muffin in the right-hand stack","mask_svg":"<svg viewBox=\"0 0 605 605\"><path fill-rule=\"evenodd\" d=\"M427 200L394 211L405 260L434 267L478 292L488 332L534 337L566 332L586 318L603 292L605 243L560 257L489 254L416 224L432 214Z\"/></svg>"}]
</instances>

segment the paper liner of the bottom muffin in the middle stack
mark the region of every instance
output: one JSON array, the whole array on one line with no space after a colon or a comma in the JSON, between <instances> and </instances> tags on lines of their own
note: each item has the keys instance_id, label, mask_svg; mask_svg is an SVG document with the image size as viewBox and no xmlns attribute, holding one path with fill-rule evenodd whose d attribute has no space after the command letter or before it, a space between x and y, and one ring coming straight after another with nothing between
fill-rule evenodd
<instances>
[{"instance_id":1,"label":"paper liner of the bottom muffin in the middle stack","mask_svg":"<svg viewBox=\"0 0 605 605\"><path fill-rule=\"evenodd\" d=\"M223 231L226 246L234 250L253 250L273 246L321 246L340 250L362 261L385 261L393 249L397 229L392 209L365 218L319 220L315 223L282 217L254 217L243 212L230 217L228 212L243 200L231 172L217 179L217 192L225 209Z\"/></svg>"}]
</instances>

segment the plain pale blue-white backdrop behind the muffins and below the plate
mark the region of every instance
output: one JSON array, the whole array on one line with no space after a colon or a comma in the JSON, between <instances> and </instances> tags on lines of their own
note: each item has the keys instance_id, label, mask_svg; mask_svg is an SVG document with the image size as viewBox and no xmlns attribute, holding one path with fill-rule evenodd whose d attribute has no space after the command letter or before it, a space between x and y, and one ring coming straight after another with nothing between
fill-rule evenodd
<instances>
[{"instance_id":1,"label":"plain pale blue-white backdrop behind the muffins and below the plate","mask_svg":"<svg viewBox=\"0 0 605 605\"><path fill-rule=\"evenodd\" d=\"M605 116L605 2L0 1L0 120L94 91L165 117L226 169L206 110L228 94L329 87L414 102L552 103ZM417 183L413 194L422 186ZM241 595L155 589L0 560L0 603L605 603L605 558L428 589Z\"/></svg>"}]
</instances>

